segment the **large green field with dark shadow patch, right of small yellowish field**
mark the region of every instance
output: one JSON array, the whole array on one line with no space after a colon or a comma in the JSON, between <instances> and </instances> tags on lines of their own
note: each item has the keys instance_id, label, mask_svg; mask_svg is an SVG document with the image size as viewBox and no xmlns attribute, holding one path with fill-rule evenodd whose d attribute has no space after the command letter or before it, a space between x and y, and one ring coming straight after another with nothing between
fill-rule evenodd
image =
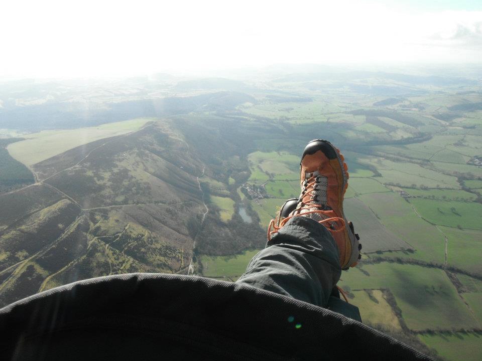
<instances>
[{"instance_id":1,"label":"large green field with dark shadow patch, right of small yellowish field","mask_svg":"<svg viewBox=\"0 0 482 361\"><path fill-rule=\"evenodd\" d=\"M365 264L341 275L352 290L389 289L410 329L460 329L478 322L441 269L409 264Z\"/></svg>"}]
</instances>

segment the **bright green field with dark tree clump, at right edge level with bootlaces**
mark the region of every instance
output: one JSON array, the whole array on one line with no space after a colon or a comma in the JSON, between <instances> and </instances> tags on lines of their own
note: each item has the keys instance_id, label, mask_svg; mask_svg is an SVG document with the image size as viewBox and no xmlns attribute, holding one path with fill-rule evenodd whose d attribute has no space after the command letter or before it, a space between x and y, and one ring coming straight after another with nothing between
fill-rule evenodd
<instances>
[{"instance_id":1,"label":"bright green field with dark tree clump, at right edge level with bootlaces","mask_svg":"<svg viewBox=\"0 0 482 361\"><path fill-rule=\"evenodd\" d=\"M410 199L418 213L427 221L449 227L482 230L482 205L473 202Z\"/></svg>"}]
</instances>

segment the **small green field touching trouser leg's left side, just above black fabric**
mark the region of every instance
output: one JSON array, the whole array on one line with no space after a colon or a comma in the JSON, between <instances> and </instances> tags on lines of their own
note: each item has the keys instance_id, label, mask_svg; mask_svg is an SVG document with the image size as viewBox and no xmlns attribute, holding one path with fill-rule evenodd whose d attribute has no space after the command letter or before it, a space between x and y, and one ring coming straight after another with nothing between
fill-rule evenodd
<instances>
[{"instance_id":1,"label":"small green field touching trouser leg's left side, just above black fabric","mask_svg":"<svg viewBox=\"0 0 482 361\"><path fill-rule=\"evenodd\" d=\"M233 281L246 271L246 267L259 250L245 251L233 256L201 256L203 276L229 277Z\"/></svg>"}]
</instances>

